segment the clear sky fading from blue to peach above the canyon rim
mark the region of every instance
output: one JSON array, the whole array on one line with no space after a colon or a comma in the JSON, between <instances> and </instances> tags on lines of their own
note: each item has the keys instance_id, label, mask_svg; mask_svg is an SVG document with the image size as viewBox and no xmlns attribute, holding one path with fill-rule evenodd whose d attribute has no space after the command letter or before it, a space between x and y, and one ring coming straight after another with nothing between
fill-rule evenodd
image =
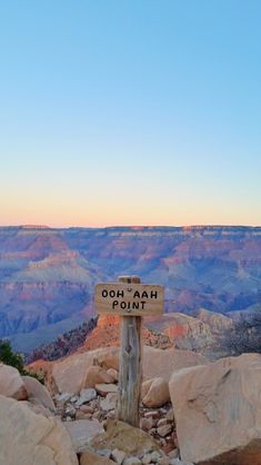
<instances>
[{"instance_id":1,"label":"clear sky fading from blue to peach above the canyon rim","mask_svg":"<svg viewBox=\"0 0 261 465\"><path fill-rule=\"evenodd\" d=\"M0 225L261 225L260 0L0 2Z\"/></svg>"}]
</instances>

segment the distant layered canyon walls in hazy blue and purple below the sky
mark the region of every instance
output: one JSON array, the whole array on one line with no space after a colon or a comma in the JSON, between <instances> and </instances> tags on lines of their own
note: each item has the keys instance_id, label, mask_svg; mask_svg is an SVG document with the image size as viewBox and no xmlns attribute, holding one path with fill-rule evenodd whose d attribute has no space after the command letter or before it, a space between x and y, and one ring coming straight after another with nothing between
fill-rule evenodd
<instances>
[{"instance_id":1,"label":"distant layered canyon walls in hazy blue and purple below the sky","mask_svg":"<svg viewBox=\"0 0 261 465\"><path fill-rule=\"evenodd\" d=\"M0 228L0 337L53 339L122 274L163 285L167 311L245 310L261 301L261 228Z\"/></svg>"}]
</instances>

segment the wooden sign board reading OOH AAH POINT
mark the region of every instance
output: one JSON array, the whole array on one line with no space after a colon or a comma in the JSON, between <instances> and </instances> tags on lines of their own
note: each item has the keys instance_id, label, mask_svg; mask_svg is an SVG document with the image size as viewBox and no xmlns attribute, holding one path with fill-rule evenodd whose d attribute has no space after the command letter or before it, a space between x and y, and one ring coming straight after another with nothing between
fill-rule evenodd
<instances>
[{"instance_id":1,"label":"wooden sign board reading OOH AAH POINT","mask_svg":"<svg viewBox=\"0 0 261 465\"><path fill-rule=\"evenodd\" d=\"M163 313L163 286L149 284L104 283L96 286L98 314L159 315Z\"/></svg>"}]
</instances>

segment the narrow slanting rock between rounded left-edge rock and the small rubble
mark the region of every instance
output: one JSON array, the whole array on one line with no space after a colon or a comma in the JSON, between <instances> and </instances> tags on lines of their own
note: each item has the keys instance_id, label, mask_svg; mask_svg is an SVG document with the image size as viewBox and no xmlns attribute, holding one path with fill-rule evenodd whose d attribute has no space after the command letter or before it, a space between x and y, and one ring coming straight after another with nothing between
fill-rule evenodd
<instances>
[{"instance_id":1,"label":"narrow slanting rock between rounded left-edge rock and the small rubble","mask_svg":"<svg viewBox=\"0 0 261 465\"><path fill-rule=\"evenodd\" d=\"M47 390L46 386L39 383L38 379L32 376L22 376L26 389L28 392L28 399L33 404L40 404L49 410L54 412L56 406L53 400Z\"/></svg>"}]
</instances>

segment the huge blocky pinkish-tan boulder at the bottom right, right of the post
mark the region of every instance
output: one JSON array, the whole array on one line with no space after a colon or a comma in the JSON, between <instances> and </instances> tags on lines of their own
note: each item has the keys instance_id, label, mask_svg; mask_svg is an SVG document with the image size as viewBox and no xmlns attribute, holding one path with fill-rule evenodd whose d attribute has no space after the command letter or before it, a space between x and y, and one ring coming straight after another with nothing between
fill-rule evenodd
<instances>
[{"instance_id":1,"label":"huge blocky pinkish-tan boulder at the bottom right, right of the post","mask_svg":"<svg viewBox=\"0 0 261 465\"><path fill-rule=\"evenodd\" d=\"M180 369L169 387L182 461L261 464L261 355Z\"/></svg>"}]
</instances>

